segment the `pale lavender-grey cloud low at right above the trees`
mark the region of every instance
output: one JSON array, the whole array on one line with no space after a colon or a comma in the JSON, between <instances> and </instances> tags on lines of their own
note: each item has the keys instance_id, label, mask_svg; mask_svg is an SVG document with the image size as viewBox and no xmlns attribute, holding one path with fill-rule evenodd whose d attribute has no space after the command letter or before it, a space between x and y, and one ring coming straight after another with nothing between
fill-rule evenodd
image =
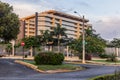
<instances>
[{"instance_id":1,"label":"pale lavender-grey cloud low at right above the trees","mask_svg":"<svg viewBox=\"0 0 120 80\"><path fill-rule=\"evenodd\" d=\"M120 17L99 17L98 21L93 23L93 27L105 39L120 38Z\"/></svg>"}]
</instances>

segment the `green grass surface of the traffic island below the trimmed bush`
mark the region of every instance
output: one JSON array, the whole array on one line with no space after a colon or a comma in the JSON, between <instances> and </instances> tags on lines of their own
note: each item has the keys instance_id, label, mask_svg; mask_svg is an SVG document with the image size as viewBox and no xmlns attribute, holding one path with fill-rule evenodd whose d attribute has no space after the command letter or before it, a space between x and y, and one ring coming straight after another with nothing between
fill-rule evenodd
<instances>
[{"instance_id":1,"label":"green grass surface of the traffic island below the trimmed bush","mask_svg":"<svg viewBox=\"0 0 120 80\"><path fill-rule=\"evenodd\" d=\"M24 62L36 65L34 61L29 61L29 60L24 60ZM85 68L72 65L72 64L62 64L62 65L36 65L38 66L38 69L47 71L47 70L58 70L58 69L63 69L63 70L83 70Z\"/></svg>"}]
</instances>

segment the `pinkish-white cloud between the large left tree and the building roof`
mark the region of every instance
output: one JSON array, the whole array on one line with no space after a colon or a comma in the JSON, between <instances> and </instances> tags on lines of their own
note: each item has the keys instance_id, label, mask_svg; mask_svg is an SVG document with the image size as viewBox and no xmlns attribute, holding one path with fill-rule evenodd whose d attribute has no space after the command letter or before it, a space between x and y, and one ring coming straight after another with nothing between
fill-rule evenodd
<instances>
[{"instance_id":1,"label":"pinkish-white cloud between the large left tree and the building roof","mask_svg":"<svg viewBox=\"0 0 120 80\"><path fill-rule=\"evenodd\" d=\"M44 6L48 5L45 1L38 1L37 3L16 3L13 5L15 13L19 14L20 17L29 16L35 12L41 12L51 9L51 7Z\"/></svg>"}]
</instances>

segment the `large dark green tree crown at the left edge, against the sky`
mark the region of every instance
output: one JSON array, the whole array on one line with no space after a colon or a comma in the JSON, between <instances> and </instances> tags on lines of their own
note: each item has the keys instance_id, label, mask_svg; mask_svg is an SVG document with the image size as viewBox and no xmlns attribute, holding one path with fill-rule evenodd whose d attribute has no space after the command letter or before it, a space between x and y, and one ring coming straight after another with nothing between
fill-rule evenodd
<instances>
[{"instance_id":1,"label":"large dark green tree crown at the left edge, against the sky","mask_svg":"<svg viewBox=\"0 0 120 80\"><path fill-rule=\"evenodd\" d=\"M0 1L0 38L5 42L16 39L19 33L19 18L13 7Z\"/></svg>"}]
</instances>

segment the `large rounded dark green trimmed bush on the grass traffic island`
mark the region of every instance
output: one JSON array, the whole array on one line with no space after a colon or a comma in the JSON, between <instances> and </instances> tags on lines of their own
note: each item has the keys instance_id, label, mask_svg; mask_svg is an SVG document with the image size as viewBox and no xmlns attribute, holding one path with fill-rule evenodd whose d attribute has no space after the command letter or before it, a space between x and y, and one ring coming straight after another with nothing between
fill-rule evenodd
<instances>
[{"instance_id":1,"label":"large rounded dark green trimmed bush on the grass traffic island","mask_svg":"<svg viewBox=\"0 0 120 80\"><path fill-rule=\"evenodd\" d=\"M41 52L34 57L34 61L37 65L61 65L64 60L62 53L54 52Z\"/></svg>"}]
</instances>

